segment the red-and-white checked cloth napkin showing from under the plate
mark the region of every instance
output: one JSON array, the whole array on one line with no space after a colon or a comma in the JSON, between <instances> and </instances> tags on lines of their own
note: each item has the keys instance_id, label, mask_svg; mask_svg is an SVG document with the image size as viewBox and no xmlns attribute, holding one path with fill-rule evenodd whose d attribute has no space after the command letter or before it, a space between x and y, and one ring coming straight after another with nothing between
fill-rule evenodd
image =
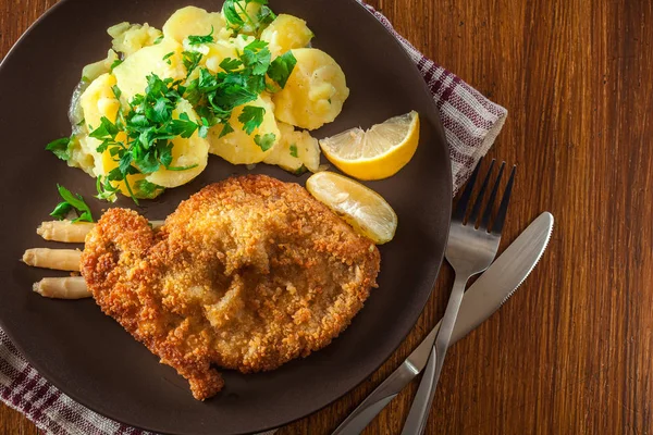
<instances>
[{"instance_id":1,"label":"red-and-white checked cloth napkin showing from under the plate","mask_svg":"<svg viewBox=\"0 0 653 435\"><path fill-rule=\"evenodd\" d=\"M431 90L446 133L455 194L492 147L507 111L427 59L395 32L383 14L372 7L366 8L402 42ZM25 361L1 330L0 399L24 413L46 434L149 434L107 419L61 393Z\"/></svg>"}]
</instances>

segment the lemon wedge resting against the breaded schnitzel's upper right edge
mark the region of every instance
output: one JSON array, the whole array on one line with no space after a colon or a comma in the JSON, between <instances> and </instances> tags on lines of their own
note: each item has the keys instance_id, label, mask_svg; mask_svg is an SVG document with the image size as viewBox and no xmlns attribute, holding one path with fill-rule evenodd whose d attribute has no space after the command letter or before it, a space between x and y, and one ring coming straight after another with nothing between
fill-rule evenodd
<instances>
[{"instance_id":1,"label":"lemon wedge resting against the breaded schnitzel's upper right edge","mask_svg":"<svg viewBox=\"0 0 653 435\"><path fill-rule=\"evenodd\" d=\"M342 216L354 229L377 245L393 239L397 215L374 190L333 172L318 172L306 181L306 188Z\"/></svg>"}]
</instances>

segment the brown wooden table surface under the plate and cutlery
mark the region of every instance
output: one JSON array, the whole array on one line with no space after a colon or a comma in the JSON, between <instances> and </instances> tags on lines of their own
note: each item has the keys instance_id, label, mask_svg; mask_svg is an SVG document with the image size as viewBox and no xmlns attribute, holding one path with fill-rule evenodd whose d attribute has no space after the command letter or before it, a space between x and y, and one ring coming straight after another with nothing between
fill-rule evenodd
<instances>
[{"instance_id":1,"label":"brown wooden table surface under the plate and cutlery","mask_svg":"<svg viewBox=\"0 0 653 435\"><path fill-rule=\"evenodd\" d=\"M0 55L54 2L0 0ZM370 3L509 110L490 152L519 165L503 246L556 219L520 290L448 352L428 433L653 434L653 2ZM445 266L381 370L279 434L330 433L435 324L451 284ZM398 434L416 389L366 434ZM0 433L37 431L2 407Z\"/></svg>"}]
</instances>

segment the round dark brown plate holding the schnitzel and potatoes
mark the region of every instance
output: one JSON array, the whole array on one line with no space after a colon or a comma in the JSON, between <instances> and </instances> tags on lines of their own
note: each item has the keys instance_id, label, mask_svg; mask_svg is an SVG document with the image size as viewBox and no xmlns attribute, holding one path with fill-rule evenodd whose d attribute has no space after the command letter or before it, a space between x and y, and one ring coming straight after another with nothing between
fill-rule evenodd
<instances>
[{"instance_id":1,"label":"round dark brown plate holding the schnitzel and potatoes","mask_svg":"<svg viewBox=\"0 0 653 435\"><path fill-rule=\"evenodd\" d=\"M130 21L160 27L176 9L209 0L65 0L34 25L0 66L0 321L29 362L57 387L88 408L130 425L175 434L242 434L283 425L343 396L369 376L410 331L433 288L446 244L452 181L435 105L399 44L354 0L271 0L276 12L307 20L316 47L343 67L352 95L341 116L317 137L370 125L417 110L421 142L396 176L367 183L399 216L396 238L381 247L380 287L349 328L325 349L281 369L250 375L225 372L225 388L195 401L186 381L136 343L93 300L57 301L30 291L56 272L21 262L26 248L50 246L35 234L58 202L60 183L90 199L95 181L70 169L45 145L67 136L66 109L82 67L110 47L104 29ZM418 11L416 11L417 13ZM248 171L218 158L192 184L139 209L162 219L202 186ZM304 184L282 170L263 173ZM99 215L100 203L93 199ZM135 208L127 200L120 206ZM62 275L62 274L60 274Z\"/></svg>"}]
</instances>

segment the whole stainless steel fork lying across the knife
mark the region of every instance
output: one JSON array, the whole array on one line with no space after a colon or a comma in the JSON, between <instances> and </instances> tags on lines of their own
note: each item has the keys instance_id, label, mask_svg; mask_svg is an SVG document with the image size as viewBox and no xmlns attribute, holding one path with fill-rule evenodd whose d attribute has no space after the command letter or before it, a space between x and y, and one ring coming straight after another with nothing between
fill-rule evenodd
<instances>
[{"instance_id":1,"label":"whole stainless steel fork lying across the knife","mask_svg":"<svg viewBox=\"0 0 653 435\"><path fill-rule=\"evenodd\" d=\"M515 182L516 166L513 166L510 178L503 195L498 212L492 227L490 227L492 207L496 199L498 184L503 176L506 163L503 162L501 164L498 176L496 177L496 182L490 194L490 199L485 206L485 211L477 226L479 212L488 188L488 183L490 182L490 176L492 175L494 163L495 161L493 160L490 165L490 171L488 171L488 175L481 185L479 196L473 203L469 219L466 221L465 215L468 210L473 185L479 174L480 162L471 175L471 178L458 201L458 206L452 215L452 226L445 256L448 263L454 268L456 279L446 306L444 318L442 319L440 332L435 338L435 344L431 350L429 362L424 369L417 395L415 396L408 413L408 419L404 424L402 435L417 435L424 432L427 421L429 420L431 403L433 402L433 396L435 395L435 387L438 385L438 380L440 378L440 373L442 372L444 357L446 356L446 349L448 348L448 343L452 338L452 332L454 331L456 318L458 316L458 309L463 301L467 282L471 276L488 269L496 257L498 243L501 241L501 232L504 226L508 203L510 201L510 194L513 191L513 183Z\"/></svg>"}]
</instances>

